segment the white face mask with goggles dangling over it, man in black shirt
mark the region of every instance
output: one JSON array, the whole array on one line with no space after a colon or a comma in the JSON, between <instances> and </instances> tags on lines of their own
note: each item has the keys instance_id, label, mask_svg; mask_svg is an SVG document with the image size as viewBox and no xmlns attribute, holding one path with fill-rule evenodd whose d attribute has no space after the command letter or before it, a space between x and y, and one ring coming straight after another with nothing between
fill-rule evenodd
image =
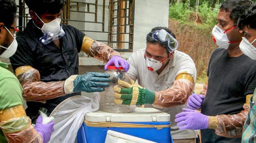
<instances>
[{"instance_id":1,"label":"white face mask with goggles dangling over it, man in black shirt","mask_svg":"<svg viewBox=\"0 0 256 143\"><path fill-rule=\"evenodd\" d=\"M38 15L37 15L37 17L40 19L40 17ZM34 21L33 21L33 23L34 23ZM46 45L46 44L50 43L51 41L55 41L55 40L58 40L59 38L63 37L65 35L65 32L64 32L62 26L60 25L60 23L61 23L61 19L59 19L59 18L56 18L49 23L43 22L42 28L37 27L37 25L35 25L35 23L34 23L34 25L37 28L41 29L41 31L44 33L43 37L41 37L39 39L39 41Z\"/></svg>"}]
</instances>

